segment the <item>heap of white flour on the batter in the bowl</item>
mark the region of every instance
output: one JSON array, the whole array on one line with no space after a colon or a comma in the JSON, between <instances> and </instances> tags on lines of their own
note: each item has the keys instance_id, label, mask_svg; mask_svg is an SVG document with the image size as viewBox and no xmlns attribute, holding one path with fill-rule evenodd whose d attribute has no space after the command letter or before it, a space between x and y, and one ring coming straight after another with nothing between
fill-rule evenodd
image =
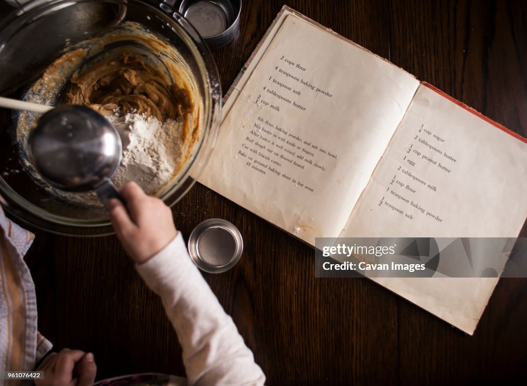
<instances>
[{"instance_id":1,"label":"heap of white flour on the batter in the bowl","mask_svg":"<svg viewBox=\"0 0 527 386\"><path fill-rule=\"evenodd\" d=\"M110 122L123 142L121 164L112 181L118 187L135 181L147 194L155 194L174 177L182 155L181 118L161 123L154 116L114 111Z\"/></svg>"}]
</instances>

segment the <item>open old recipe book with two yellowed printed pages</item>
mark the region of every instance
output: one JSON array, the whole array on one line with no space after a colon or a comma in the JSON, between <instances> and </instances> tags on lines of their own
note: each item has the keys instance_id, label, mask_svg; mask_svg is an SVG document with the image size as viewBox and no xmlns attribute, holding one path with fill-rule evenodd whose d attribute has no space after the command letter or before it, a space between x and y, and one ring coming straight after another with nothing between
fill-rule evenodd
<instances>
[{"instance_id":1,"label":"open old recipe book with two yellowed printed pages","mask_svg":"<svg viewBox=\"0 0 527 386\"><path fill-rule=\"evenodd\" d=\"M199 182L315 237L516 237L527 140L284 7ZM496 278L377 278L467 333Z\"/></svg>"}]
</instances>

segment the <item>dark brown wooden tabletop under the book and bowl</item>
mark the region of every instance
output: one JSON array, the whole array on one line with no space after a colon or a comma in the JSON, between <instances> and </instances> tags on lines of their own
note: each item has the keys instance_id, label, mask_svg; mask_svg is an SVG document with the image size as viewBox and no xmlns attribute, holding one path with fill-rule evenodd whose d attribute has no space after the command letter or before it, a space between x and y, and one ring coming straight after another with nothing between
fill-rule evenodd
<instances>
[{"instance_id":1,"label":"dark brown wooden tabletop under the book and bowl","mask_svg":"<svg viewBox=\"0 0 527 386\"><path fill-rule=\"evenodd\" d=\"M224 91L283 4L243 4L240 34L214 52ZM527 2L287 4L527 136ZM7 9L2 3L2 15ZM268 384L527 381L527 279L500 280L468 336L367 279L316 279L313 249L207 187L194 186L173 213L186 238L211 217L239 227L245 242L240 263L203 276ZM114 236L35 232L27 262L38 325L55 350L94 352L97 379L143 371L184 374L161 302Z\"/></svg>"}]
</instances>

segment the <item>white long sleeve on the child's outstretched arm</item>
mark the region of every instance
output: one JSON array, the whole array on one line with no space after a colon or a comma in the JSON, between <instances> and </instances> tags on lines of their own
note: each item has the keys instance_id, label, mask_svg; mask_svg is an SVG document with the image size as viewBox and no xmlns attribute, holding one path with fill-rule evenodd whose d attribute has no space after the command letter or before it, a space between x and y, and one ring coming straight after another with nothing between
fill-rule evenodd
<instances>
[{"instance_id":1,"label":"white long sleeve on the child's outstretched arm","mask_svg":"<svg viewBox=\"0 0 527 386\"><path fill-rule=\"evenodd\" d=\"M191 261L181 233L135 268L161 296L183 348L189 385L264 384L264 373Z\"/></svg>"}]
</instances>

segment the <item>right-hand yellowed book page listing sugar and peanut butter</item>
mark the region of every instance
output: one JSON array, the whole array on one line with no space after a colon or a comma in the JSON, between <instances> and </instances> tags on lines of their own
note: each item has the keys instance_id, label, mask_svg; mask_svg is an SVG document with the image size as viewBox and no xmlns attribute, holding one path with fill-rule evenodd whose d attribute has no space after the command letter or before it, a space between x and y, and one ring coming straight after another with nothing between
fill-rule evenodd
<instances>
[{"instance_id":1,"label":"right-hand yellowed book page listing sugar and peanut butter","mask_svg":"<svg viewBox=\"0 0 527 386\"><path fill-rule=\"evenodd\" d=\"M516 237L527 144L419 87L341 237ZM373 278L472 334L497 278Z\"/></svg>"}]
</instances>

